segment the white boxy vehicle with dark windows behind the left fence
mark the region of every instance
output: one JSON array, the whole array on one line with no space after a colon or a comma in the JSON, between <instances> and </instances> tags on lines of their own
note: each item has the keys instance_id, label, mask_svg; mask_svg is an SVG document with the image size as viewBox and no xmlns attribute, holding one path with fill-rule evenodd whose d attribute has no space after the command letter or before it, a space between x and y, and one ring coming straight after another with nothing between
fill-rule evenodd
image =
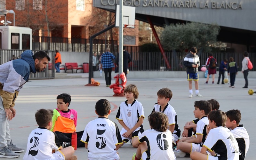
<instances>
[{"instance_id":1,"label":"white boxy vehicle with dark windows behind the left fence","mask_svg":"<svg viewBox=\"0 0 256 160\"><path fill-rule=\"evenodd\" d=\"M17 26L0 26L0 49L31 50L32 29Z\"/></svg>"}]
</instances>

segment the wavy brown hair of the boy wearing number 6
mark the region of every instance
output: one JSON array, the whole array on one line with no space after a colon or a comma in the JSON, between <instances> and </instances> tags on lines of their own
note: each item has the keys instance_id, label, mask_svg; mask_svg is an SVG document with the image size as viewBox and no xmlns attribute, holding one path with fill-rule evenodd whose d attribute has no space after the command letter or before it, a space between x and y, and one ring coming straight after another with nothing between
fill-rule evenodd
<instances>
[{"instance_id":1,"label":"wavy brown hair of the boy wearing number 6","mask_svg":"<svg viewBox=\"0 0 256 160\"><path fill-rule=\"evenodd\" d=\"M169 127L168 117L162 112L152 112L148 121L150 127L157 132L166 132Z\"/></svg>"}]
</instances>

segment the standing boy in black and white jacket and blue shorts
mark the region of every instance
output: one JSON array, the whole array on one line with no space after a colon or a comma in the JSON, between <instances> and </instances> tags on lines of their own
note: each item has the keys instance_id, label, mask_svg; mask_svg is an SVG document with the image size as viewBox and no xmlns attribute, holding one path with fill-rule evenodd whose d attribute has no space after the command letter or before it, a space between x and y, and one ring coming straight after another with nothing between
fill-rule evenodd
<instances>
[{"instance_id":1,"label":"standing boy in black and white jacket and blue shorts","mask_svg":"<svg viewBox=\"0 0 256 160\"><path fill-rule=\"evenodd\" d=\"M193 97L193 90L192 90L192 80L195 81L195 88L196 88L196 97L203 97L199 93L199 86L198 86L198 67L200 66L200 60L197 53L196 47L192 47L190 53L184 58L183 64L187 68L187 75L188 75L188 87L189 87L189 98Z\"/></svg>"}]
</instances>

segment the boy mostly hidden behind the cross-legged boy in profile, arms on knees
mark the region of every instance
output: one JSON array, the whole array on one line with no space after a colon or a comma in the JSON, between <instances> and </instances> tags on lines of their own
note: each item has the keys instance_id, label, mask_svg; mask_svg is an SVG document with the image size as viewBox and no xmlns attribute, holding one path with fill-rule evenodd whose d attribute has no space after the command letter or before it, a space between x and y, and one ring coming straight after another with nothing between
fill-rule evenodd
<instances>
[{"instance_id":1,"label":"boy mostly hidden behind the cross-legged boy in profile, arms on knees","mask_svg":"<svg viewBox=\"0 0 256 160\"><path fill-rule=\"evenodd\" d=\"M217 100L211 99L207 100L212 104L212 110L218 110L220 108L220 103ZM184 131L182 132L182 137L191 137L192 133L196 132L196 124L199 121L199 119L192 120L190 122L187 122L184 126Z\"/></svg>"}]
</instances>

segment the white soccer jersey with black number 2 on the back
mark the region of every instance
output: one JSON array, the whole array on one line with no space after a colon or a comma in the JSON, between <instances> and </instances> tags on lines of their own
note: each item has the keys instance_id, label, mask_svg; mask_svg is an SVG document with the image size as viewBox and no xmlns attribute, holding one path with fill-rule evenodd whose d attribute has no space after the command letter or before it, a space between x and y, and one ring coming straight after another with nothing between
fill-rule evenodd
<instances>
[{"instance_id":1,"label":"white soccer jersey with black number 2 on the back","mask_svg":"<svg viewBox=\"0 0 256 160\"><path fill-rule=\"evenodd\" d=\"M52 150L58 150L55 135L46 128L34 129L28 136L27 151L23 160L55 160Z\"/></svg>"}]
</instances>

